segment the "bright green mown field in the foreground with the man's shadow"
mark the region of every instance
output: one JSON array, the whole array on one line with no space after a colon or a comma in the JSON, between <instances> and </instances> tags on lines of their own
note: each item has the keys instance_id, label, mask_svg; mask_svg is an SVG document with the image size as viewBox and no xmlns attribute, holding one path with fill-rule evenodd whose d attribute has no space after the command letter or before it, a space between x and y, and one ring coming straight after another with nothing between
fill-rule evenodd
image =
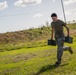
<instances>
[{"instance_id":1,"label":"bright green mown field in the foreground with the man's shadow","mask_svg":"<svg viewBox=\"0 0 76 75\"><path fill-rule=\"evenodd\" d=\"M74 54L64 52L62 64L55 68L56 47L37 46L0 52L0 75L76 75L76 42Z\"/></svg>"}]
</instances>

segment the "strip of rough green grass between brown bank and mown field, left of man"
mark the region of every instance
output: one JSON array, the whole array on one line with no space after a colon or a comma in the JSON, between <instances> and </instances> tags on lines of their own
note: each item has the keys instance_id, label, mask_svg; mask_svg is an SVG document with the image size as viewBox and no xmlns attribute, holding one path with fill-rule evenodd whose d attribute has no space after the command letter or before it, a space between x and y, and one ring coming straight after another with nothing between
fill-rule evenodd
<instances>
[{"instance_id":1,"label":"strip of rough green grass between brown bank and mown field, left of man","mask_svg":"<svg viewBox=\"0 0 76 75\"><path fill-rule=\"evenodd\" d=\"M47 40L38 40L38 41L32 41L27 43L16 43L16 44L2 44L0 45L0 52L4 51L11 51L11 50L18 50L22 48L33 48L33 47L40 47L40 46L46 46Z\"/></svg>"}]
</instances>

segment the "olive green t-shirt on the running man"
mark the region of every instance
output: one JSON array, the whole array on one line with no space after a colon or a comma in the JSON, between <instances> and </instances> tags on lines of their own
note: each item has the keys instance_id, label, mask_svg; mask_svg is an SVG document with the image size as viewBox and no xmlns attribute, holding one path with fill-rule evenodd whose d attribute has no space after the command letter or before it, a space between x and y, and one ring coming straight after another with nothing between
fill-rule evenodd
<instances>
[{"instance_id":1,"label":"olive green t-shirt on the running man","mask_svg":"<svg viewBox=\"0 0 76 75\"><path fill-rule=\"evenodd\" d=\"M55 35L62 35L63 26L66 26L66 23L64 23L61 20L58 20L57 22L52 22L51 26L52 26L52 28L54 28Z\"/></svg>"}]
</instances>

